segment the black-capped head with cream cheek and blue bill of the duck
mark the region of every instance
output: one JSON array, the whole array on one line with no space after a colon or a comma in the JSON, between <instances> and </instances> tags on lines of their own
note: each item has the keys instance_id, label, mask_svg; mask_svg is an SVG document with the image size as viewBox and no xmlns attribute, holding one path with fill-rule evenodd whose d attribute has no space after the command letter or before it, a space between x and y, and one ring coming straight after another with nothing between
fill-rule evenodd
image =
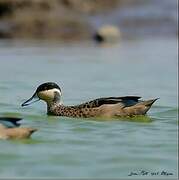
<instances>
[{"instance_id":1,"label":"black-capped head with cream cheek and blue bill of the duck","mask_svg":"<svg viewBox=\"0 0 179 180\"><path fill-rule=\"evenodd\" d=\"M33 96L25 101L22 106L28 106L29 104L39 100L44 100L47 104L51 104L53 102L60 103L61 95L61 89L56 83L43 83L36 89Z\"/></svg>"}]
</instances>

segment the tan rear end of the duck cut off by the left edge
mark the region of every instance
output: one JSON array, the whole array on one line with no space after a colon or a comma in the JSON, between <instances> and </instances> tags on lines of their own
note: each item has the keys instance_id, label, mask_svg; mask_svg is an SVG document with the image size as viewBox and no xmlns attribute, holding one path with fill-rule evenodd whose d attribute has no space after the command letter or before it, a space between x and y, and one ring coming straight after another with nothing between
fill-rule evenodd
<instances>
[{"instance_id":1,"label":"tan rear end of the duck cut off by the left edge","mask_svg":"<svg viewBox=\"0 0 179 180\"><path fill-rule=\"evenodd\" d=\"M0 117L0 139L26 139L30 138L36 128L19 127L22 118Z\"/></svg>"}]
</instances>

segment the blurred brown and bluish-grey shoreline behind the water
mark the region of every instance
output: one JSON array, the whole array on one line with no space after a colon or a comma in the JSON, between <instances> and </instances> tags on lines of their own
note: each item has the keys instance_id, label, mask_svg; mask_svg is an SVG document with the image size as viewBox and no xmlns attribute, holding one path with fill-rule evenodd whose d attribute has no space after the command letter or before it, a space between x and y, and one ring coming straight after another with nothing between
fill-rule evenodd
<instances>
[{"instance_id":1,"label":"blurred brown and bluish-grey shoreline behind the water","mask_svg":"<svg viewBox=\"0 0 179 180\"><path fill-rule=\"evenodd\" d=\"M0 38L90 40L105 24L122 37L177 36L177 1L0 0Z\"/></svg>"}]
</instances>

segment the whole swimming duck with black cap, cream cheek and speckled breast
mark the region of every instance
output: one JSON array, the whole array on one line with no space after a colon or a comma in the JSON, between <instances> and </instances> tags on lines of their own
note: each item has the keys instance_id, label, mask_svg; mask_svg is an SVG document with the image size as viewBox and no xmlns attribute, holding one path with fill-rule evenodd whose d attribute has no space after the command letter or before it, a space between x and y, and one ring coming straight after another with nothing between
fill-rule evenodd
<instances>
[{"instance_id":1,"label":"whole swimming duck with black cap, cream cheek and speckled breast","mask_svg":"<svg viewBox=\"0 0 179 180\"><path fill-rule=\"evenodd\" d=\"M152 104L158 99L139 100L138 96L98 98L80 105L65 106L61 102L62 91L53 82L41 84L33 96L22 106L43 100L47 104L47 114L76 118L116 118L145 115Z\"/></svg>"}]
</instances>

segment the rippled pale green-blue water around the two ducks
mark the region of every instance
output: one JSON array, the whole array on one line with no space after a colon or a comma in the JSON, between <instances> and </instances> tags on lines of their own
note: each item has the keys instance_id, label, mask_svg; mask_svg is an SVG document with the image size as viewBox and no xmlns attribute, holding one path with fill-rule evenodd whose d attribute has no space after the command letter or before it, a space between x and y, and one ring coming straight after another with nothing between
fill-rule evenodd
<instances>
[{"instance_id":1,"label":"rippled pale green-blue water around the two ducks","mask_svg":"<svg viewBox=\"0 0 179 180\"><path fill-rule=\"evenodd\" d=\"M104 96L160 99L148 117L108 121L49 117L43 102L22 108L46 81L60 85L67 105ZM127 178L141 170L148 175L135 177L176 177L176 82L174 38L113 46L1 41L0 115L23 117L22 126L39 131L0 141L0 177Z\"/></svg>"}]
</instances>

